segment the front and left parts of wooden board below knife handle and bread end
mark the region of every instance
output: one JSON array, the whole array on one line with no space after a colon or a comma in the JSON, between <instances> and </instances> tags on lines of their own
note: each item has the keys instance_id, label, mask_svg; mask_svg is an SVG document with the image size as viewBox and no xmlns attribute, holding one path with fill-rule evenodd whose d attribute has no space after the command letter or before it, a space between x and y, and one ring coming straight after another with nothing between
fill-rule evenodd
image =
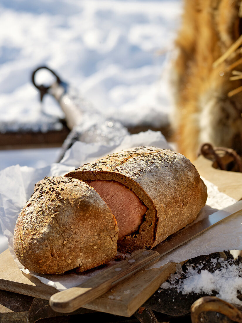
<instances>
[{"instance_id":1,"label":"front and left parts of wooden board below knife handle and bread end","mask_svg":"<svg viewBox=\"0 0 242 323\"><path fill-rule=\"evenodd\" d=\"M54 287L19 270L8 249L0 255L0 263L0 289L44 299L57 292ZM83 307L130 317L175 271L176 263L143 270Z\"/></svg>"}]
</instances>

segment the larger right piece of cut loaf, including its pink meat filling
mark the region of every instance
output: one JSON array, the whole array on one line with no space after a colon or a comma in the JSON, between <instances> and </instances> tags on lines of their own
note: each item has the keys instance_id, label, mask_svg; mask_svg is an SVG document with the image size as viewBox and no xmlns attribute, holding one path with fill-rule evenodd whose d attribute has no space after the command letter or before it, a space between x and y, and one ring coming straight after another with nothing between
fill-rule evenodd
<instances>
[{"instance_id":1,"label":"larger right piece of cut loaf, including its pink meat filling","mask_svg":"<svg viewBox=\"0 0 242 323\"><path fill-rule=\"evenodd\" d=\"M114 153L69 172L100 194L119 226L118 248L152 248L194 221L207 188L183 155L156 147Z\"/></svg>"}]
</instances>

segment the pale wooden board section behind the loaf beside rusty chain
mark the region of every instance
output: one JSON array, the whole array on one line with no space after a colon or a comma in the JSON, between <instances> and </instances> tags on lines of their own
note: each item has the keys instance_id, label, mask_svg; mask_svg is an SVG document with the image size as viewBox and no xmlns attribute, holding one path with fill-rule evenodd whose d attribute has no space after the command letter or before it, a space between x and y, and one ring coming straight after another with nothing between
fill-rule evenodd
<instances>
[{"instance_id":1,"label":"pale wooden board section behind the loaf beside rusty chain","mask_svg":"<svg viewBox=\"0 0 242 323\"><path fill-rule=\"evenodd\" d=\"M242 199L242 173L226 172L212 167L213 162L200 155L193 162L199 174L212 182L222 193L233 197L237 201Z\"/></svg>"}]
</instances>

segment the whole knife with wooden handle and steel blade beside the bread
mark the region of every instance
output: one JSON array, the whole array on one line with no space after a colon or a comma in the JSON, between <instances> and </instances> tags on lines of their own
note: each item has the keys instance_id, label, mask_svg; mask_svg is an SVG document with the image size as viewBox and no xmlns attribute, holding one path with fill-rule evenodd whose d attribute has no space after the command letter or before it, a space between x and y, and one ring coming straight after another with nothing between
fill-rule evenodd
<instances>
[{"instance_id":1,"label":"whole knife with wooden handle and steel blade beside the bread","mask_svg":"<svg viewBox=\"0 0 242 323\"><path fill-rule=\"evenodd\" d=\"M103 295L120 281L151 266L163 255L166 255L198 234L205 232L207 229L241 210L242 200L212 213L200 221L187 225L185 228L169 236L164 242L153 248L153 250L140 249L133 252L131 257L121 264L107 268L77 287L72 287L52 295L50 306L55 311L61 313L69 313L78 309L82 305Z\"/></svg>"}]
</instances>

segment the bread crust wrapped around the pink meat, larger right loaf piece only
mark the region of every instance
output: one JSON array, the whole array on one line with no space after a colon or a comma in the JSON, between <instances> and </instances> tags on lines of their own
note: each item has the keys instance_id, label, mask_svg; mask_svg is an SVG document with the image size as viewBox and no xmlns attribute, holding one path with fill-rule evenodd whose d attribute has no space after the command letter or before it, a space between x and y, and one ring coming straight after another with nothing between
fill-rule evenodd
<instances>
[{"instance_id":1,"label":"bread crust wrapped around the pink meat, larger right loaf piece only","mask_svg":"<svg viewBox=\"0 0 242 323\"><path fill-rule=\"evenodd\" d=\"M137 232L118 240L120 251L152 248L194 221L207 200L195 166L167 149L140 146L87 163L65 176L113 180L131 189L148 211Z\"/></svg>"}]
</instances>

